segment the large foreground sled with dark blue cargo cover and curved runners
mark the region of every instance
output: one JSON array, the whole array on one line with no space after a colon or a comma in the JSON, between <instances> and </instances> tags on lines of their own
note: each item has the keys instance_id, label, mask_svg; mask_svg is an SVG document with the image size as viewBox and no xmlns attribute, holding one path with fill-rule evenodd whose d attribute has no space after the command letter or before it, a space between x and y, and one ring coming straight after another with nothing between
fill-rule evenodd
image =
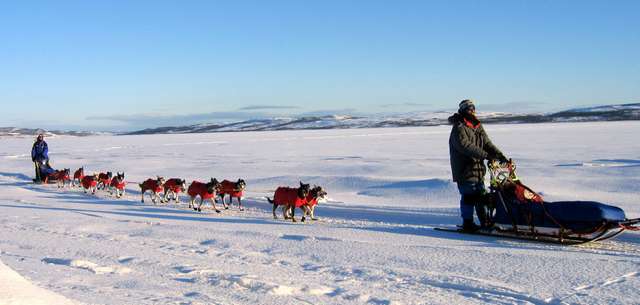
<instances>
[{"instance_id":1,"label":"large foreground sled with dark blue cargo cover and curved runners","mask_svg":"<svg viewBox=\"0 0 640 305\"><path fill-rule=\"evenodd\" d=\"M513 162L489 163L490 192L476 207L481 209L479 215L486 216L480 219L481 229L471 234L578 245L640 230L640 218L627 219L622 209L612 205L544 201L518 179L515 169Z\"/></svg>"}]
</instances>

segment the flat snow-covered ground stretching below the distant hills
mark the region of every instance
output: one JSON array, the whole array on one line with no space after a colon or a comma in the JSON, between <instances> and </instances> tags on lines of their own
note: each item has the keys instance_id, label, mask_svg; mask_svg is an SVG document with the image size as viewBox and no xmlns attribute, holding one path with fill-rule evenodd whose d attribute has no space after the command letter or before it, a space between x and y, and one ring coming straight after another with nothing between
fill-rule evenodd
<instances>
[{"instance_id":1,"label":"flat snow-covered ground stretching below the distant hills","mask_svg":"<svg viewBox=\"0 0 640 305\"><path fill-rule=\"evenodd\" d=\"M640 217L640 122L486 129L547 200ZM49 291L31 296L77 304L638 304L638 233L565 247L434 231L459 222L449 130L47 139L54 167L125 171L124 199L33 185L33 139L0 139L0 260ZM134 182L155 175L242 177L248 208L142 204ZM328 190L320 220L274 220L264 196L299 180ZM0 267L0 304L21 304L34 290Z\"/></svg>"}]
</instances>

